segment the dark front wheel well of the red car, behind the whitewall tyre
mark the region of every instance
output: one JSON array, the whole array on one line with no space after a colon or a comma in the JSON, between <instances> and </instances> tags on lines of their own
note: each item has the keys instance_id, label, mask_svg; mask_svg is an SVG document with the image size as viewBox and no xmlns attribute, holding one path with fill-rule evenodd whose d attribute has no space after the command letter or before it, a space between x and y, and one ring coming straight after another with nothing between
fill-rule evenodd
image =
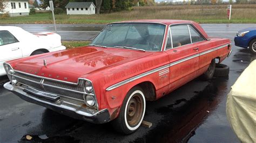
<instances>
[{"instance_id":1,"label":"dark front wheel well of the red car, behind the whitewall tyre","mask_svg":"<svg viewBox=\"0 0 256 143\"><path fill-rule=\"evenodd\" d=\"M156 88L154 87L152 82L146 81L137 85L143 89L146 101L156 100Z\"/></svg>"}]
</instances>

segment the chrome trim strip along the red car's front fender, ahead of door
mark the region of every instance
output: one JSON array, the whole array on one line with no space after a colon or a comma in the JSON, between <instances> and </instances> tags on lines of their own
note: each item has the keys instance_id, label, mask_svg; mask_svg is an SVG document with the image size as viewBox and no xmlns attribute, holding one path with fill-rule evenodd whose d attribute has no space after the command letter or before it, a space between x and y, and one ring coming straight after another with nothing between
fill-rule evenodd
<instances>
[{"instance_id":1,"label":"chrome trim strip along the red car's front fender, ahead of door","mask_svg":"<svg viewBox=\"0 0 256 143\"><path fill-rule=\"evenodd\" d=\"M129 79L127 79L127 80L124 80L124 81L122 81L122 82L119 82L119 83L117 83L117 84L114 84L114 85L110 86L109 88L107 88L106 91L113 90L113 89L115 89L115 88L118 88L118 87L120 87L120 86L126 84L126 83L135 81L135 80L137 80L137 79L139 79L139 78L142 78L142 77L144 77L144 76L147 76L147 75L156 73L156 72L159 71L159 70L163 70L163 69L169 68L169 67L170 67L170 64L167 64L167 65L165 65L165 66L161 66L161 67L159 67L159 68L156 68L156 69L147 71L146 73L143 73L143 74L134 76L134 77L132 77L132 78L129 78Z\"/></svg>"}]
</instances>

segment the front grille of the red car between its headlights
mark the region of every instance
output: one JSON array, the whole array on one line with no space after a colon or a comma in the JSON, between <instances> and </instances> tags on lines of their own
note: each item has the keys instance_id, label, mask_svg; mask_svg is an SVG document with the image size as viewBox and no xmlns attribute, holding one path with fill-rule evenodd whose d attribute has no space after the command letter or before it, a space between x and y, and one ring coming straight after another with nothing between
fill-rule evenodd
<instances>
[{"instance_id":1,"label":"front grille of the red car between its headlights","mask_svg":"<svg viewBox=\"0 0 256 143\"><path fill-rule=\"evenodd\" d=\"M57 94L59 96L71 97L84 101L84 88L79 87L79 85L72 85L51 80L43 80L43 78L18 72L15 72L14 76L19 83L28 85L29 87ZM43 80L42 85L40 84L41 80Z\"/></svg>"}]
</instances>

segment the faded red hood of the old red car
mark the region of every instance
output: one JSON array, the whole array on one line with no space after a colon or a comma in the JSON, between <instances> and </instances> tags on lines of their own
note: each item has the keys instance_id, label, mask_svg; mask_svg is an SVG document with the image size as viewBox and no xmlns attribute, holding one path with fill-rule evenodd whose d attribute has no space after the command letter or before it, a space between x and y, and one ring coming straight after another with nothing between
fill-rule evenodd
<instances>
[{"instance_id":1,"label":"faded red hood of the old red car","mask_svg":"<svg viewBox=\"0 0 256 143\"><path fill-rule=\"evenodd\" d=\"M62 52L36 55L15 64L14 69L25 73L76 83L93 72L150 55L131 49L81 47ZM44 62L45 61L45 62ZM44 65L45 64L45 65Z\"/></svg>"}]
</instances>

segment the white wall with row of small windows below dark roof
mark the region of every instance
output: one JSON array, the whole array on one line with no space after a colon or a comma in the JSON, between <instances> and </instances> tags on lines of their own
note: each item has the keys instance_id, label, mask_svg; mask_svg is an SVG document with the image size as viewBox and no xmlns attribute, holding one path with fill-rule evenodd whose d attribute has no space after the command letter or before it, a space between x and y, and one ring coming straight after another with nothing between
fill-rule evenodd
<instances>
[{"instance_id":1,"label":"white wall with row of small windows below dark roof","mask_svg":"<svg viewBox=\"0 0 256 143\"><path fill-rule=\"evenodd\" d=\"M90 10L91 9L91 10ZM72 10L72 8L70 8L70 10L68 8L66 8L66 14L67 15L94 15L95 14L95 7L91 4L91 6L86 10L86 8L83 8L83 10L81 10L81 8L74 8L74 10Z\"/></svg>"}]
</instances>

